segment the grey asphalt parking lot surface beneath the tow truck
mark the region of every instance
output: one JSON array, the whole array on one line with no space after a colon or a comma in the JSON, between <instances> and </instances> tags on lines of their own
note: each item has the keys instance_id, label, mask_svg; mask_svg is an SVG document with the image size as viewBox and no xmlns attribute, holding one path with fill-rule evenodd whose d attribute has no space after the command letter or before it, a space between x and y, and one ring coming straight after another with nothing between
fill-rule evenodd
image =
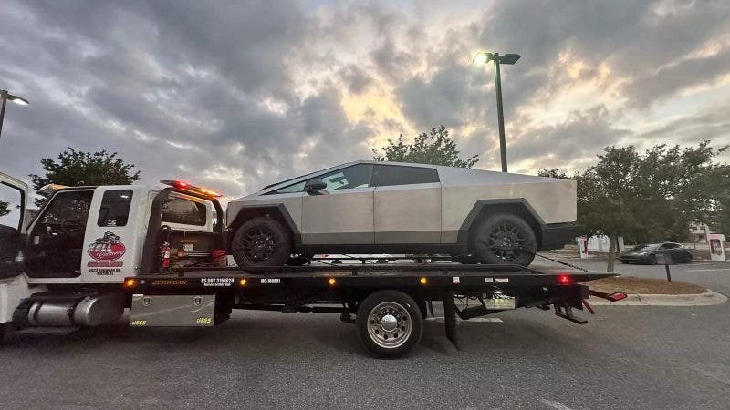
<instances>
[{"instance_id":1,"label":"grey asphalt parking lot surface beneath the tow truck","mask_svg":"<svg viewBox=\"0 0 730 410\"><path fill-rule=\"evenodd\" d=\"M718 272L726 272L730 289L730 272ZM717 284L722 278L694 276ZM443 324L431 320L420 348L394 361L365 355L354 326L329 314L234 313L214 329L130 329L120 322L32 331L0 347L0 394L5 408L730 403L728 303L601 306L589 321L581 326L535 309L498 313L489 322L460 323L457 351Z\"/></svg>"}]
</instances>

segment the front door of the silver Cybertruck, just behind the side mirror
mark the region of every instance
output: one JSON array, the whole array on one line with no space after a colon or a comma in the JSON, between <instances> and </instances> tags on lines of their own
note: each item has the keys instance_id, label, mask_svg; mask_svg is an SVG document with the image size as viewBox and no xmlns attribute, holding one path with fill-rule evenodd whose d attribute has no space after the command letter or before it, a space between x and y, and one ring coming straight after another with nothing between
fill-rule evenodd
<instances>
[{"instance_id":1,"label":"front door of the silver Cybertruck, just behind the side mirror","mask_svg":"<svg viewBox=\"0 0 730 410\"><path fill-rule=\"evenodd\" d=\"M357 164L317 178L327 184L302 200L302 243L305 245L371 245L375 241L372 165Z\"/></svg>"}]
</instances>

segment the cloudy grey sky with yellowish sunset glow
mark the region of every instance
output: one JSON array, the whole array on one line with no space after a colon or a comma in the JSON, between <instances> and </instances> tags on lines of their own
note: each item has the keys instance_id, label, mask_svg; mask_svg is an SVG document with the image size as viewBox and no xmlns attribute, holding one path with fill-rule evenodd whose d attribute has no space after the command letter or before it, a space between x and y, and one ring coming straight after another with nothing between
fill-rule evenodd
<instances>
[{"instance_id":1,"label":"cloudy grey sky with yellowish sunset glow","mask_svg":"<svg viewBox=\"0 0 730 410\"><path fill-rule=\"evenodd\" d=\"M477 50L522 55L502 70L510 171L730 143L725 0L1 0L0 21L0 87L31 102L0 138L20 176L108 149L237 197L439 124L499 169Z\"/></svg>"}]
</instances>

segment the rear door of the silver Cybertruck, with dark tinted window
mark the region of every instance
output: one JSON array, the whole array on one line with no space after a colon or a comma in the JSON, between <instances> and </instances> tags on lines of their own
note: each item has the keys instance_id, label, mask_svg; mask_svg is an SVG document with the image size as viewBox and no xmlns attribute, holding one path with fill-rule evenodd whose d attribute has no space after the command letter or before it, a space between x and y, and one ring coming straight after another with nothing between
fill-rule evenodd
<instances>
[{"instance_id":1,"label":"rear door of the silver Cybertruck, with dark tinted window","mask_svg":"<svg viewBox=\"0 0 730 410\"><path fill-rule=\"evenodd\" d=\"M376 165L375 243L440 243L441 182L436 169Z\"/></svg>"}]
</instances>

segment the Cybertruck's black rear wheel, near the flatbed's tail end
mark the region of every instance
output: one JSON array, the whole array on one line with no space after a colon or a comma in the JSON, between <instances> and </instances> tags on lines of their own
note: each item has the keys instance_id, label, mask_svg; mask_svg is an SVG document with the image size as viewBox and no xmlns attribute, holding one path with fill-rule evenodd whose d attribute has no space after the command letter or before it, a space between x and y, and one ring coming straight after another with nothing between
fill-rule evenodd
<instances>
[{"instance_id":1,"label":"Cybertruck's black rear wheel, near the flatbed's tail end","mask_svg":"<svg viewBox=\"0 0 730 410\"><path fill-rule=\"evenodd\" d=\"M488 264L511 263L527 266L535 259L535 232L522 218L497 213L482 220L473 236L473 253Z\"/></svg>"}]
</instances>

